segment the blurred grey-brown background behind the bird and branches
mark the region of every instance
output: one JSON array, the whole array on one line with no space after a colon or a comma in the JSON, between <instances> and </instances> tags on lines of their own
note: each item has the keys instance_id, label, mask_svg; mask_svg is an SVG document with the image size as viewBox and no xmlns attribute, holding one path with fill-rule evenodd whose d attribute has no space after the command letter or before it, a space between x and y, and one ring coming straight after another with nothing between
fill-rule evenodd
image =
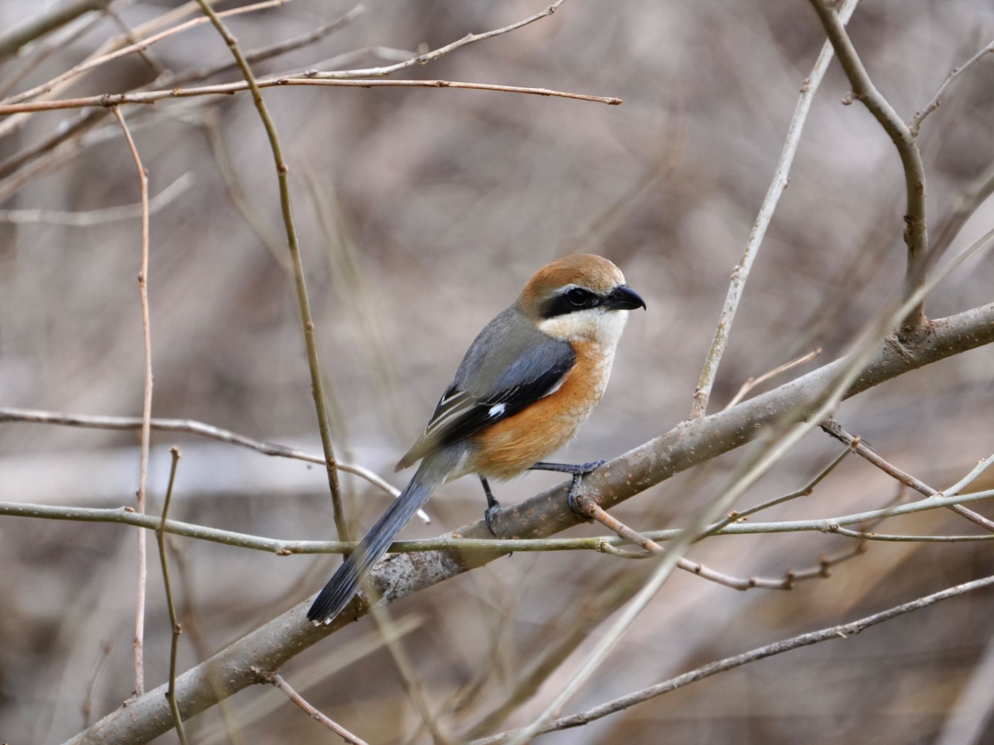
<instances>
[{"instance_id":1,"label":"blurred grey-brown background behind the bird and branches","mask_svg":"<svg viewBox=\"0 0 994 745\"><path fill-rule=\"evenodd\" d=\"M0 0L0 30L53 5ZM39 51L48 56L13 90L43 82L176 5L112 4L112 13L88 15L50 37L51 49L7 60L0 84ZM294 0L229 25L243 48L254 50L306 34L352 7ZM388 65L544 7L542 0L370 0L339 31L255 70ZM994 6L865 0L850 28L877 86L910 119L953 67L994 39ZM577 250L617 263L648 312L632 315L607 394L562 459L613 457L685 418L729 275L823 41L803 0L571 0L552 17L396 76L549 87L618 96L623 105L455 89L265 91L290 166L339 457L404 486L406 474L394 475L393 464L469 342L535 269ZM126 90L164 70L186 74L230 59L217 33L200 26L144 58L102 66L60 97ZM749 376L817 348L818 359L786 377L843 354L900 288L900 161L862 105L841 105L848 89L833 63L752 269L712 411ZM194 418L319 453L296 297L281 265L276 180L250 98L167 100L125 113L149 171L154 211L153 415ZM134 164L112 117L96 116L66 146L17 161L78 116L37 113L16 127L0 121L9 127L0 139L0 405L140 415L134 210L113 222L95 213L92 224L9 212L90 214L138 202ZM992 118L994 60L957 78L922 127L933 230L957 196L989 173ZM991 224L994 203L975 213L949 253ZM990 302L991 287L992 262L971 261L942 284L927 312L939 317ZM992 362L994 351L984 349L907 374L849 401L838 419L940 489L994 451ZM153 433L152 443L150 512L161 510L168 448L177 445L183 459L174 519L282 538L333 536L320 468L184 435ZM133 432L0 424L0 500L132 504L137 445ZM802 486L840 447L820 432L809 435L741 504ZM617 517L641 530L678 526L749 452L667 481L619 507ZM507 504L557 481L528 475L501 485L497 496ZM348 475L342 483L350 519L370 525L389 498ZM985 484L990 488L990 479L975 486ZM814 495L764 520L844 515L897 495L895 482L850 458ZM438 534L478 519L483 507L478 485L465 479L429 503L431 524L412 522L404 535ZM994 517L990 508L977 509ZM886 527L977 529L946 511ZM575 533L583 530L603 532ZM135 542L135 530L120 525L0 518L0 740L62 742L130 695ZM338 561L187 538L170 543L186 632L181 670L301 602ZM849 545L820 534L736 536L709 540L692 557L737 575L780 575ZM985 576L994 571L987 545L875 543L830 578L790 592L739 593L674 576L565 713ZM169 659L157 562L150 540L149 689L166 680ZM457 739L492 734L544 708L646 563L595 552L502 558L391 606L390 633L402 639L443 729ZM542 742L931 742L975 671L989 674L977 664L989 654L992 612L994 597L981 591L855 639L709 678ZM564 651L574 648L572 656ZM429 740L370 617L307 650L283 674L372 743ZM982 717L987 709L971 711ZM187 732L204 745L337 741L268 686L237 694L193 719ZM175 733L160 741L175 742ZM981 741L994 742L994 735Z\"/></svg>"}]
</instances>

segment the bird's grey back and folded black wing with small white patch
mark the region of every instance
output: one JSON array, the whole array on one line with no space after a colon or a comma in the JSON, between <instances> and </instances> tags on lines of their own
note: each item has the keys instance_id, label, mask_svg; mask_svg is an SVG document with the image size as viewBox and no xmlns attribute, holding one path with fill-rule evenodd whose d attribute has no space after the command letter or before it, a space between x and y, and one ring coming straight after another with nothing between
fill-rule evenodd
<instances>
[{"instance_id":1,"label":"bird's grey back and folded black wing with small white patch","mask_svg":"<svg viewBox=\"0 0 994 745\"><path fill-rule=\"evenodd\" d=\"M563 383L576 362L573 348L516 325L513 313L500 314L476 337L398 470L513 416Z\"/></svg>"}]
</instances>

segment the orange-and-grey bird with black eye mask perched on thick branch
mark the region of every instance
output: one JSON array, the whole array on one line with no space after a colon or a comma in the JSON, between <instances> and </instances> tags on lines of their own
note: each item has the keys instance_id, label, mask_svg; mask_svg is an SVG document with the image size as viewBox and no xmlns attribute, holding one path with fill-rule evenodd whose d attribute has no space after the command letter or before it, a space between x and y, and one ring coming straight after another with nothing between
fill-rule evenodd
<instances>
[{"instance_id":1,"label":"orange-and-grey bird with black eye mask perched on thick branch","mask_svg":"<svg viewBox=\"0 0 994 745\"><path fill-rule=\"evenodd\" d=\"M607 385L628 312L645 307L621 270L602 256L572 254L539 269L470 345L423 434L397 464L401 471L420 461L414 477L318 593L307 619L330 624L445 482L477 475L491 532L500 505L490 479L506 481L528 470L570 474L574 508L580 480L604 461L543 459L586 421Z\"/></svg>"}]
</instances>

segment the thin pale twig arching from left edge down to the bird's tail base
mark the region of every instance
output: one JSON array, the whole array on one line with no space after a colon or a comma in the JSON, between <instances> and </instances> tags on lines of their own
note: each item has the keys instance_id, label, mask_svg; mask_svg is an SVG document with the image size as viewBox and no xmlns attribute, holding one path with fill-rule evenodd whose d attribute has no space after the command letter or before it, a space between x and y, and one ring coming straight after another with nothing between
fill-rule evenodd
<instances>
[{"instance_id":1,"label":"thin pale twig arching from left edge down to the bird's tail base","mask_svg":"<svg viewBox=\"0 0 994 745\"><path fill-rule=\"evenodd\" d=\"M60 411L42 411L40 409L0 407L0 422L22 421L35 424L64 424L73 427L87 427L90 429L139 429L142 420L135 416L101 416L90 414L70 414ZM222 429L213 424L206 424L193 419L152 419L150 422L152 429L162 432L185 432L187 434L200 435L211 440L227 442L231 445L239 445L249 450L254 450L263 455L279 458L292 458L294 460L316 463L323 466L325 460L320 455L305 453L302 450L295 450L287 445L280 445L275 442L265 442L255 440L246 435L232 432L229 429ZM390 482L380 478L375 472L354 463L343 463L336 461L338 470L360 479L368 481L373 486L382 489L391 497L397 498L401 490ZM417 516L421 522L428 524L431 519L423 510L417 511Z\"/></svg>"}]
</instances>

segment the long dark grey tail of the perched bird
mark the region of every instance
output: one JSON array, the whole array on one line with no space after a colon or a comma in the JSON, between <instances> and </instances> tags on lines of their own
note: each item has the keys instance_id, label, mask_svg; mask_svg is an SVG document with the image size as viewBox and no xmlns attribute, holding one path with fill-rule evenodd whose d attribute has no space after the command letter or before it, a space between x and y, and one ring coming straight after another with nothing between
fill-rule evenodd
<instances>
[{"instance_id":1,"label":"long dark grey tail of the perched bird","mask_svg":"<svg viewBox=\"0 0 994 745\"><path fill-rule=\"evenodd\" d=\"M315 624L331 623L352 600L373 564L387 552L401 528L427 502L435 487L445 480L450 470L449 459L438 458L439 455L443 454L433 453L421 462L408 488L394 500L394 504L366 533L356 550L338 567L338 571L328 580L328 584L307 611L308 621Z\"/></svg>"}]
</instances>

